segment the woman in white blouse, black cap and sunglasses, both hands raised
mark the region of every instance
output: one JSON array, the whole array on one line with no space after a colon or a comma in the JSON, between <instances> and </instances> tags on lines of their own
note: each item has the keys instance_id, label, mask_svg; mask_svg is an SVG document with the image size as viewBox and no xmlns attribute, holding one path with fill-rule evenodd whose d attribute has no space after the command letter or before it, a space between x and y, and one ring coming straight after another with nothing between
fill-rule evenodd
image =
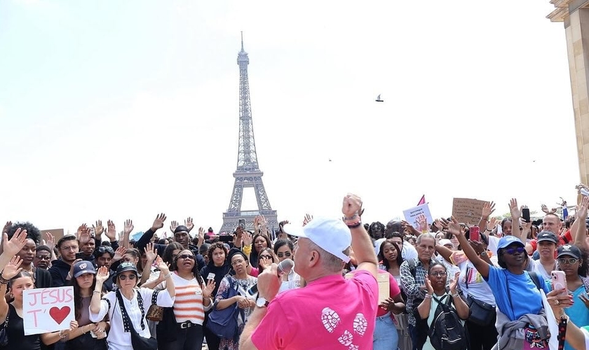
<instances>
[{"instance_id":1,"label":"woman in white blouse, black cap and sunglasses, both hands raised","mask_svg":"<svg viewBox=\"0 0 589 350\"><path fill-rule=\"evenodd\" d=\"M114 276L119 289L102 297L102 283L109 278L109 271L105 266L98 269L90 301L90 321L102 321L104 316L109 315L111 330L107 343L110 350L133 350L132 344L139 343L142 343L142 350L156 349L157 342L151 337L145 316L152 304L172 307L176 295L168 265L159 256L156 262L166 285L161 291L136 288L139 281L137 267L131 262L123 262L116 268Z\"/></svg>"}]
</instances>

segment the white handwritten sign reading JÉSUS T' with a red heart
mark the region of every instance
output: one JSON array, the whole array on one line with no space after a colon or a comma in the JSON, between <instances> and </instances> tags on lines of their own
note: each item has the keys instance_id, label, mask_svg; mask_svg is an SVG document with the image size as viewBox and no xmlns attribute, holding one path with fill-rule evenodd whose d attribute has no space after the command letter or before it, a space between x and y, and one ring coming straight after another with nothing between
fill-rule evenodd
<instances>
[{"instance_id":1,"label":"white handwritten sign reading J\u00c9SUS T' with a red heart","mask_svg":"<svg viewBox=\"0 0 589 350\"><path fill-rule=\"evenodd\" d=\"M25 335L69 329L74 321L74 287L35 288L22 292Z\"/></svg>"}]
</instances>

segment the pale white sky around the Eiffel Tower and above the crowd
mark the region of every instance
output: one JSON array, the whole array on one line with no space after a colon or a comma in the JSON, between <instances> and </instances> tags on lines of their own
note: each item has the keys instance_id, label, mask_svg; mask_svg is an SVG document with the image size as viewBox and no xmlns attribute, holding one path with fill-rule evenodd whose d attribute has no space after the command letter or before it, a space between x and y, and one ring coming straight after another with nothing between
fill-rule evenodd
<instances>
[{"instance_id":1,"label":"pale white sky around the Eiffel Tower and above the crowd","mask_svg":"<svg viewBox=\"0 0 589 350\"><path fill-rule=\"evenodd\" d=\"M236 169L240 31L279 220L365 222L421 195L574 202L562 23L548 0L0 1L0 221L193 216L218 230ZM382 94L384 103L374 102ZM329 160L332 160L330 162ZM254 209L245 193L243 209ZM249 204L249 205L248 205Z\"/></svg>"}]
</instances>

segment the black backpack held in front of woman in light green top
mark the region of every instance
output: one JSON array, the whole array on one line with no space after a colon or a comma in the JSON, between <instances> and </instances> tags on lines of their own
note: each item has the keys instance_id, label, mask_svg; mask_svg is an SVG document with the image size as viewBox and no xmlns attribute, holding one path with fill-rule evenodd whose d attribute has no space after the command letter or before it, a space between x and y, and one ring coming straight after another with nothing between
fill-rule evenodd
<instances>
[{"instance_id":1,"label":"black backpack held in front of woman in light green top","mask_svg":"<svg viewBox=\"0 0 589 350\"><path fill-rule=\"evenodd\" d=\"M450 307L452 298L444 295L442 300L432 296L438 302L433 321L428 331L430 343L435 350L468 349L468 335L456 310Z\"/></svg>"}]
</instances>

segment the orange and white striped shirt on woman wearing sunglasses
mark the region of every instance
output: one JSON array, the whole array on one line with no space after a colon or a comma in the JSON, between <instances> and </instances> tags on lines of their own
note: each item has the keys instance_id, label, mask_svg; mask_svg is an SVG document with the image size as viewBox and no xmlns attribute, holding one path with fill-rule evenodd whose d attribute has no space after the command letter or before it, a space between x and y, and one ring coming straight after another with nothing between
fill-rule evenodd
<instances>
[{"instance_id":1,"label":"orange and white striped shirt on woman wearing sunglasses","mask_svg":"<svg viewBox=\"0 0 589 350\"><path fill-rule=\"evenodd\" d=\"M203 289L201 285L196 281L196 278L183 279L178 276L177 272L172 273L172 279L176 288L174 301L176 322L191 321L202 325L205 319L205 311L212 307L212 303L208 307L203 305Z\"/></svg>"}]
</instances>

